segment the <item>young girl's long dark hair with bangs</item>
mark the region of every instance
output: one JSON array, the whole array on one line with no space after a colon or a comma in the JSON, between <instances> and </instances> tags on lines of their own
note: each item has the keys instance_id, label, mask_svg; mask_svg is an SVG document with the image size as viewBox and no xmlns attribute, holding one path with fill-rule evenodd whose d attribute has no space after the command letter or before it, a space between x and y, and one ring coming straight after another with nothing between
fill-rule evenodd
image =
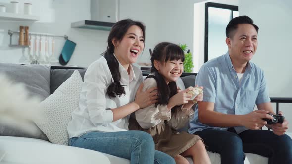
<instances>
[{"instance_id":1,"label":"young girl's long dark hair with bangs","mask_svg":"<svg viewBox=\"0 0 292 164\"><path fill-rule=\"evenodd\" d=\"M154 67L154 60L157 60L160 63L166 63L169 60L179 59L183 62L185 60L185 54L182 48L178 45L169 42L162 42L155 46L151 54L151 73L154 73L158 88L158 102L155 104L155 107L157 107L158 104L167 105L169 99L177 94L177 85L176 82L169 82L167 85L163 76ZM176 110L172 110L172 113L176 114Z\"/></svg>"}]
</instances>

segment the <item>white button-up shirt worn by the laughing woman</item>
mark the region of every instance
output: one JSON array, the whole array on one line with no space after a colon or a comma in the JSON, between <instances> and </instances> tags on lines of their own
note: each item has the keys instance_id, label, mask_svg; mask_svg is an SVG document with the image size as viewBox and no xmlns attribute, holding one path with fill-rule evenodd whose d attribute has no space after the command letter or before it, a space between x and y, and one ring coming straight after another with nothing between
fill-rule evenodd
<instances>
[{"instance_id":1,"label":"white button-up shirt worn by the laughing woman","mask_svg":"<svg viewBox=\"0 0 292 164\"><path fill-rule=\"evenodd\" d=\"M72 120L68 124L69 138L80 137L89 131L128 130L129 116L113 122L111 109L126 105L135 99L135 93L143 81L142 72L131 64L129 69L130 75L119 63L120 82L126 94L112 98L106 94L107 87L113 81L106 59L102 56L88 67L80 93L79 108L72 112Z\"/></svg>"}]
</instances>

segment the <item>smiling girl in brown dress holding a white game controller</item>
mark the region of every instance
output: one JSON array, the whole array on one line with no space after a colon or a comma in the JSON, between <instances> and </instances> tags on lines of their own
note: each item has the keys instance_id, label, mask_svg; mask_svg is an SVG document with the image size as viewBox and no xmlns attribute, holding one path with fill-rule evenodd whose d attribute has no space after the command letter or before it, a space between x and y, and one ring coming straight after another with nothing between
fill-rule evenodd
<instances>
[{"instance_id":1,"label":"smiling girl in brown dress holding a white game controller","mask_svg":"<svg viewBox=\"0 0 292 164\"><path fill-rule=\"evenodd\" d=\"M158 87L158 102L135 112L130 130L150 133L155 149L174 157L177 164L189 164L185 156L192 156L194 164L211 164L205 145L198 135L177 129L189 122L194 105L187 94L192 88L178 90L176 80L183 72L184 52L176 44L162 42L151 54L151 74L143 82L143 90ZM202 101L202 94L195 98Z\"/></svg>"}]
</instances>

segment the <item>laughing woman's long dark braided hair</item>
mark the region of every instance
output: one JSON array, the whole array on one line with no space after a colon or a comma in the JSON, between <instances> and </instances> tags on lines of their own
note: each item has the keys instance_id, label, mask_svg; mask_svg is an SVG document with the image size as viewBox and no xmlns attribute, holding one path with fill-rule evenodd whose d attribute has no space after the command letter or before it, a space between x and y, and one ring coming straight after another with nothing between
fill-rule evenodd
<instances>
[{"instance_id":1,"label":"laughing woman's long dark braided hair","mask_svg":"<svg viewBox=\"0 0 292 164\"><path fill-rule=\"evenodd\" d=\"M116 41L121 41L125 36L126 32L128 31L128 29L133 25L136 25L141 28L145 40L145 26L143 25L143 23L133 21L131 19L124 19L116 22L109 32L107 38L108 44L107 49L102 54L107 61L107 65L112 75L112 83L108 86L106 91L106 94L109 97L116 97L121 96L122 94L126 94L125 88L120 83L121 74L119 72L119 62L113 55L115 47L112 43L112 40L115 39Z\"/></svg>"}]
</instances>

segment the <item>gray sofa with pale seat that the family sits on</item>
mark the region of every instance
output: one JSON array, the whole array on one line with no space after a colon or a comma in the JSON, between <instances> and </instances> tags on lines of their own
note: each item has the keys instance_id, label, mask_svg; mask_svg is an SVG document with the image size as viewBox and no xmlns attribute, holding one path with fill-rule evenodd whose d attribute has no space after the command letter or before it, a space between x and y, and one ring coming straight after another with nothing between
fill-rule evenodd
<instances>
[{"instance_id":1,"label":"gray sofa with pale seat that the family sits on","mask_svg":"<svg viewBox=\"0 0 292 164\"><path fill-rule=\"evenodd\" d=\"M41 100L45 100L53 94L55 90L72 75L75 69L79 71L81 77L84 76L86 68L0 63L0 73L7 74L14 82L24 83L29 94L38 96ZM146 76L148 73L149 72L144 72L143 75ZM194 85L194 73L184 73L183 77L178 81L178 86L180 88L187 88ZM13 101L11 102L13 103ZM52 144L42 130L40 130L36 124L32 124L37 131L34 134L28 134L21 129L11 127L5 123L0 123L0 161L1 152L2 154L4 152L6 156L3 158L2 162L6 162L7 164L38 164L41 162L44 163L46 160L48 161L48 164L64 164L68 163L69 159L69 161L71 161L70 164L77 164L80 160L84 163L84 160L96 161L95 159L97 158L100 159L98 162L103 161L102 163L104 164L129 164L129 160L108 154ZM188 124L182 130L187 129ZM18 148L12 149L13 145ZM43 151L44 149L46 149L46 151ZM76 154L80 154L80 152L83 152L83 156L76 156ZM48 153L53 154L54 158L48 156ZM212 152L208 152L208 154L211 158L212 164L220 164L219 154ZM73 160L72 156L74 157ZM39 161L38 158L35 157L39 157ZM191 161L190 158L188 158L188 160ZM247 153L245 164L267 164L267 158Z\"/></svg>"}]
</instances>

